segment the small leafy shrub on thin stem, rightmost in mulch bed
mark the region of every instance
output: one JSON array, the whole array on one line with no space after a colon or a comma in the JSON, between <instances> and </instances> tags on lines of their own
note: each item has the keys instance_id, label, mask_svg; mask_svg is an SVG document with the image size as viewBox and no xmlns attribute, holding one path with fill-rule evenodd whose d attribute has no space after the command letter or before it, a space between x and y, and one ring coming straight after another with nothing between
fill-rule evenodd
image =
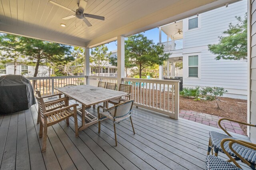
<instances>
[{"instance_id":1,"label":"small leafy shrub on thin stem, rightmost in mulch bed","mask_svg":"<svg viewBox=\"0 0 256 170\"><path fill-rule=\"evenodd\" d=\"M218 100L217 96L223 96L223 94L226 92L228 91L225 90L223 87L205 87L205 88L202 88L201 94L202 96L204 96L206 100L210 100L210 101L215 100L217 107L219 109L220 106L217 102Z\"/></svg>"}]
</instances>

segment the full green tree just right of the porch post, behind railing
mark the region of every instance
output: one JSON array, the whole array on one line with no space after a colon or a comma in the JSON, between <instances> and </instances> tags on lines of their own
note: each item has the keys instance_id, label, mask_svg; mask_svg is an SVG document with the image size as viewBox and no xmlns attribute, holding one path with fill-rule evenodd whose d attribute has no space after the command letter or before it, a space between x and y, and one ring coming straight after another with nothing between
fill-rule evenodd
<instances>
[{"instance_id":1,"label":"full green tree just right of the porch post, behind railing","mask_svg":"<svg viewBox=\"0 0 256 170\"><path fill-rule=\"evenodd\" d=\"M154 64L162 65L169 57L162 45L155 45L143 34L132 35L125 41L125 55L132 64L138 66L140 78L142 70Z\"/></svg>"}]
</instances>

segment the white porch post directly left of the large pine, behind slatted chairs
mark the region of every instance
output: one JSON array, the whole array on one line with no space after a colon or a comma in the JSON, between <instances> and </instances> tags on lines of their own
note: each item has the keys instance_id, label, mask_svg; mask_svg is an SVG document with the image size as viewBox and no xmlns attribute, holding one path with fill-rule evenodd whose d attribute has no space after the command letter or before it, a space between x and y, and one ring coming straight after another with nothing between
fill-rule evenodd
<instances>
[{"instance_id":1,"label":"white porch post directly left of the large pine, behind slatted chairs","mask_svg":"<svg viewBox=\"0 0 256 170\"><path fill-rule=\"evenodd\" d=\"M124 36L117 37L117 86L124 78Z\"/></svg>"}]
</instances>

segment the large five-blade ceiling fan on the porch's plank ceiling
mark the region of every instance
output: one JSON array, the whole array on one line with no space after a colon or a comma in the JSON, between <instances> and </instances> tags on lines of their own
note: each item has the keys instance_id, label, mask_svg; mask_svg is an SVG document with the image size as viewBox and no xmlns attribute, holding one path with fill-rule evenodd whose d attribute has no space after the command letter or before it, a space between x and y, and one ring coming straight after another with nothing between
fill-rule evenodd
<instances>
[{"instance_id":1,"label":"large five-blade ceiling fan on the porch's plank ceiling","mask_svg":"<svg viewBox=\"0 0 256 170\"><path fill-rule=\"evenodd\" d=\"M84 13L84 10L85 10L85 7L86 7L86 4L87 2L85 0L80 0L80 2L78 2L78 9L76 11L70 9L70 8L67 8L66 6L62 6L61 4L58 4L56 2L53 2L52 0L49 0L50 3L54 4L54 5L57 5L61 8L64 8L65 10L69 10L71 12L74 12L75 14L71 15L71 16L66 16L64 18L62 18L62 20L68 20L70 18L77 18L78 20L83 20L84 23L86 23L86 25L88 27L91 27L92 24L86 19L86 17L88 18L94 18L94 19L97 19L97 20L105 20L104 17L102 16L96 16L96 15L92 15L92 14L86 14Z\"/></svg>"}]
</instances>

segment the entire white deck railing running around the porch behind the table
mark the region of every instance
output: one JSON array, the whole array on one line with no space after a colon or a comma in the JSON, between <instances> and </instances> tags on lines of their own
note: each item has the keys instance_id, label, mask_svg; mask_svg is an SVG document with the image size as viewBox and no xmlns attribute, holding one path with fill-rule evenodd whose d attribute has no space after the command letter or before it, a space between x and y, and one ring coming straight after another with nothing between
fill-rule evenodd
<instances>
[{"instance_id":1,"label":"entire white deck railing running around the porch behind the table","mask_svg":"<svg viewBox=\"0 0 256 170\"><path fill-rule=\"evenodd\" d=\"M34 88L43 95L55 94L55 87L66 84L98 86L99 81L117 83L116 77L106 76L60 76L30 77ZM177 80L155 80L141 78L122 78L122 83L132 85L131 96L134 105L156 111L178 119L179 113L179 82Z\"/></svg>"}]
</instances>

